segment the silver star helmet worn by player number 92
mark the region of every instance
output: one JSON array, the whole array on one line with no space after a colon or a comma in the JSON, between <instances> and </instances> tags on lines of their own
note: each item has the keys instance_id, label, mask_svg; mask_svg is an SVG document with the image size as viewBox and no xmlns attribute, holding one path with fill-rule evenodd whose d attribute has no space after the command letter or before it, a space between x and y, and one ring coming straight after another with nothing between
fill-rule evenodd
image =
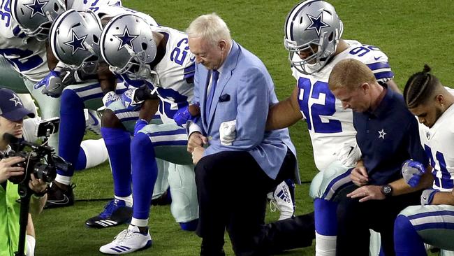
<instances>
[{"instance_id":1,"label":"silver star helmet worn by player number 92","mask_svg":"<svg viewBox=\"0 0 454 256\"><path fill-rule=\"evenodd\" d=\"M306 74L320 71L335 54L343 31L344 24L330 3L298 3L284 25L284 46L291 65ZM300 52L306 52L308 57L301 59Z\"/></svg>"}]
</instances>

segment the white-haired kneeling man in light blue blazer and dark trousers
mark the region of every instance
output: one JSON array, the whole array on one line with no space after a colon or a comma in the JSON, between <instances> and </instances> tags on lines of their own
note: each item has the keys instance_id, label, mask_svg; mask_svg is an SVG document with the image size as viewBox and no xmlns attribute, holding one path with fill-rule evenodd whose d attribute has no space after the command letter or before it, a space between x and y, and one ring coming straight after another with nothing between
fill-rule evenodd
<instances>
[{"instance_id":1,"label":"white-haired kneeling man in light blue blazer and dark trousers","mask_svg":"<svg viewBox=\"0 0 454 256\"><path fill-rule=\"evenodd\" d=\"M186 29L196 56L188 151L196 164L200 255L224 255L227 229L235 255L268 255L263 246L266 194L286 178L298 181L287 129L265 131L274 84L258 57L230 38L215 13ZM247 199L244 199L247 197Z\"/></svg>"}]
</instances>

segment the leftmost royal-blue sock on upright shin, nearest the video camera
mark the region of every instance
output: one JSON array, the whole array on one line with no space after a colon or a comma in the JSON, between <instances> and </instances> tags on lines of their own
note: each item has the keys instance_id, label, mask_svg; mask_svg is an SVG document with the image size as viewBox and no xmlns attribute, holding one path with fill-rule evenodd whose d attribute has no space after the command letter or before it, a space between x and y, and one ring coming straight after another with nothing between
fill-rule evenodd
<instances>
[{"instance_id":1,"label":"leftmost royal-blue sock on upright shin, nearest the video camera","mask_svg":"<svg viewBox=\"0 0 454 256\"><path fill-rule=\"evenodd\" d=\"M73 90L61 94L59 156L75 166L79 156L80 143L85 134L84 103ZM74 170L57 170L60 176L72 177Z\"/></svg>"}]
</instances>

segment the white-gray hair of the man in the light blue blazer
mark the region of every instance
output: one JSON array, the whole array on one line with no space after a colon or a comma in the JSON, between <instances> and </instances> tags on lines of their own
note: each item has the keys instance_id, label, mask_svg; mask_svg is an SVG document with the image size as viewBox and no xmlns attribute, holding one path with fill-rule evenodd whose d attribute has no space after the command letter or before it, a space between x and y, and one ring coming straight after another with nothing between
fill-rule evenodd
<instances>
[{"instance_id":1,"label":"white-gray hair of the man in the light blue blazer","mask_svg":"<svg viewBox=\"0 0 454 256\"><path fill-rule=\"evenodd\" d=\"M216 13L197 17L189 24L186 34L191 38L204 38L210 45L216 45L221 40L231 40L230 29Z\"/></svg>"}]
</instances>

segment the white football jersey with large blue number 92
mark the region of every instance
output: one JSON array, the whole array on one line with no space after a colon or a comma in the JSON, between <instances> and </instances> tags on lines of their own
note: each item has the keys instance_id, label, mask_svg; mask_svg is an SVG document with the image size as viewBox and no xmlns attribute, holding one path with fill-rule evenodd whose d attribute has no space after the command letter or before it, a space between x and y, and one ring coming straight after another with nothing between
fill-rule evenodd
<instances>
[{"instance_id":1,"label":"white football jersey with large blue number 92","mask_svg":"<svg viewBox=\"0 0 454 256\"><path fill-rule=\"evenodd\" d=\"M349 48L336 55L317 73L305 75L292 68L299 90L298 104L307 122L318 170L324 170L334 162L337 159L334 154L344 144L356 144L353 113L351 109L342 108L342 102L335 99L328 87L328 78L335 64L342 59L358 59L369 66L379 81L385 82L394 76L388 57L379 48L358 41L346 40L346 43Z\"/></svg>"}]
</instances>

